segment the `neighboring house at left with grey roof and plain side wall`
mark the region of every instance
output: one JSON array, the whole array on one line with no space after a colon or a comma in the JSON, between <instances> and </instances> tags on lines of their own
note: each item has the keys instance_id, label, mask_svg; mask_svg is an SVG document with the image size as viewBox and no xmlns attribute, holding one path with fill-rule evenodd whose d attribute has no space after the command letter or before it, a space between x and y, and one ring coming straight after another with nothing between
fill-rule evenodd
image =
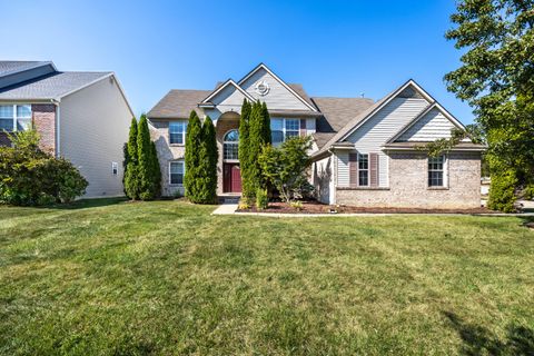
<instances>
[{"instance_id":1,"label":"neighboring house at left with grey roof and plain side wall","mask_svg":"<svg viewBox=\"0 0 534 356\"><path fill-rule=\"evenodd\" d=\"M0 61L0 145L34 128L41 148L88 180L85 197L122 196L122 145L134 112L112 72L58 71L50 61Z\"/></svg>"}]
</instances>

